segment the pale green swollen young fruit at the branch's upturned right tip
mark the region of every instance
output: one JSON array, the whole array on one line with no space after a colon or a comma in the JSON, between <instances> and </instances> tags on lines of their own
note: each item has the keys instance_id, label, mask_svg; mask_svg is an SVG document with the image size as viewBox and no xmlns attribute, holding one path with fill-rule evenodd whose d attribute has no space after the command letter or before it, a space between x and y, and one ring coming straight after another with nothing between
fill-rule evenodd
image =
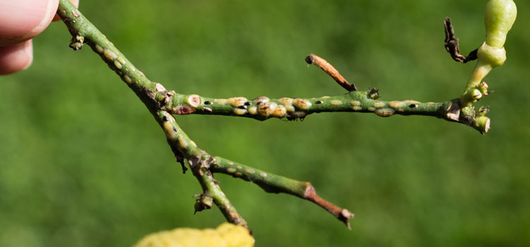
<instances>
[{"instance_id":1,"label":"pale green swollen young fruit at the branch's upturned right tip","mask_svg":"<svg viewBox=\"0 0 530 247\"><path fill-rule=\"evenodd\" d=\"M512 28L516 16L517 7L513 0L488 1L484 16L486 43L491 47L504 47L506 35Z\"/></svg>"}]
</instances>

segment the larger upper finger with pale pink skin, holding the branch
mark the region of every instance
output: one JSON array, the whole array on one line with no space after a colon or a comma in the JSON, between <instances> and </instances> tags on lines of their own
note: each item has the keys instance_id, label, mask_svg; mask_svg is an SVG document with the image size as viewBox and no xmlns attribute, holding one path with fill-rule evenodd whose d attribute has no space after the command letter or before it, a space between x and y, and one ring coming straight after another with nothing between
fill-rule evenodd
<instances>
[{"instance_id":1,"label":"larger upper finger with pale pink skin, holding the branch","mask_svg":"<svg viewBox=\"0 0 530 247\"><path fill-rule=\"evenodd\" d=\"M40 34L57 11L59 0L0 1L0 47L5 47Z\"/></svg>"}]
</instances>

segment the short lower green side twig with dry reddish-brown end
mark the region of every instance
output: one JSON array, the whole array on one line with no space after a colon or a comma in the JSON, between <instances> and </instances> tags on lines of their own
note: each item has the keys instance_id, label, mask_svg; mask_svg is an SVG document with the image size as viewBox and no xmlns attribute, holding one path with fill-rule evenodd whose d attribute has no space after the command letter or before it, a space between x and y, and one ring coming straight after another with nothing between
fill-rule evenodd
<instances>
[{"instance_id":1,"label":"short lower green side twig with dry reddish-brown end","mask_svg":"<svg viewBox=\"0 0 530 247\"><path fill-rule=\"evenodd\" d=\"M288 179L285 176L278 176L253 167L247 167L221 157L215 157L215 159L217 163L211 167L212 172L228 174L245 181L256 183L257 186L263 188L267 193L288 193L305 200L310 200L330 212L338 220L344 222L348 229L351 229L349 219L353 218L353 214L347 209L338 207L321 198L317 195L311 183Z\"/></svg>"}]
</instances>

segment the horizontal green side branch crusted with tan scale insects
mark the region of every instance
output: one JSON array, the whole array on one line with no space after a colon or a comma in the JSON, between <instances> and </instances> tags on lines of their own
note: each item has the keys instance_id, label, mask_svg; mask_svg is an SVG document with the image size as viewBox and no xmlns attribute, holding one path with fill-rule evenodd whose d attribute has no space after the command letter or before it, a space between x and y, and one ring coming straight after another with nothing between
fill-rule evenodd
<instances>
[{"instance_id":1,"label":"horizontal green side branch crusted with tan scale insects","mask_svg":"<svg viewBox=\"0 0 530 247\"><path fill-rule=\"evenodd\" d=\"M199 95L175 95L170 107L173 114L244 116L259 120L283 117L298 119L320 112L367 112L378 116L423 115L452 120L446 116L447 107L452 104L451 101L427 103L414 100L382 101L370 99L369 93L370 91L354 91L332 97L283 97L280 99L262 96L254 100L247 100L245 97L216 99ZM190 97L199 99L200 103L190 104L188 100Z\"/></svg>"}]
</instances>

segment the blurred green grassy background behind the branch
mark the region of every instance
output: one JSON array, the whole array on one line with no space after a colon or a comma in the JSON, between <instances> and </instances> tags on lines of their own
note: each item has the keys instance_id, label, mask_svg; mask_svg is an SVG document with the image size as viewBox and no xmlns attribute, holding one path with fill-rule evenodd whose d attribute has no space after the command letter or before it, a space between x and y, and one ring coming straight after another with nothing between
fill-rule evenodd
<instances>
[{"instance_id":1,"label":"blurred green grassy background behind the branch","mask_svg":"<svg viewBox=\"0 0 530 247\"><path fill-rule=\"evenodd\" d=\"M211 97L315 97L343 89L314 53L382 100L458 97L473 63L443 47L449 16L467 54L486 1L81 0L83 12L152 80ZM423 116L313 114L291 122L178 116L213 155L293 179L355 213L352 231L316 205L217 175L257 246L529 246L528 1L486 78L490 133ZM0 246L131 246L193 215L201 193L136 96L62 23L27 71L0 77Z\"/></svg>"}]
</instances>

